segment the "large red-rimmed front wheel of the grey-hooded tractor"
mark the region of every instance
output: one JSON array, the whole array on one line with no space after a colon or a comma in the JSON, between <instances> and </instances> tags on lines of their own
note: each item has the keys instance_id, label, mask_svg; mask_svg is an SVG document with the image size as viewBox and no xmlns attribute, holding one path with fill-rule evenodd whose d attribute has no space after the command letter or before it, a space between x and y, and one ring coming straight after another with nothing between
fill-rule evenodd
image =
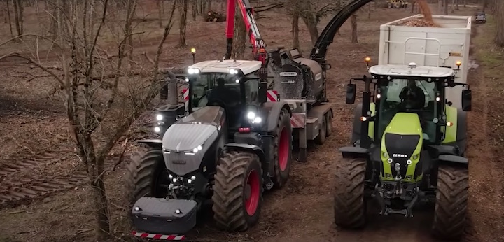
<instances>
[{"instance_id":1,"label":"large red-rimmed front wheel of the grey-hooded tractor","mask_svg":"<svg viewBox=\"0 0 504 242\"><path fill-rule=\"evenodd\" d=\"M262 204L262 169L251 152L225 152L215 175L214 220L219 229L243 232L257 223Z\"/></svg>"}]
</instances>

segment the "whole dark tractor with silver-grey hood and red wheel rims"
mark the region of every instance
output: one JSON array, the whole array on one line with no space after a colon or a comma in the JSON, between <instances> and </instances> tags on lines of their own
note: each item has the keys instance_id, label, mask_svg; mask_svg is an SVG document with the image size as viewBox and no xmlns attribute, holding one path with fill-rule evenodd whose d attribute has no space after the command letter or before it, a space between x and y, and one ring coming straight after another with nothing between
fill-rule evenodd
<instances>
[{"instance_id":1,"label":"whole dark tractor with silver-grey hood and red wheel rims","mask_svg":"<svg viewBox=\"0 0 504 242\"><path fill-rule=\"evenodd\" d=\"M203 204L219 229L244 231L258 221L263 191L286 183L292 161L291 111L267 101L260 65L189 66L187 109L158 109L160 139L139 141L148 147L127 167L134 235L181 236Z\"/></svg>"}]
</instances>

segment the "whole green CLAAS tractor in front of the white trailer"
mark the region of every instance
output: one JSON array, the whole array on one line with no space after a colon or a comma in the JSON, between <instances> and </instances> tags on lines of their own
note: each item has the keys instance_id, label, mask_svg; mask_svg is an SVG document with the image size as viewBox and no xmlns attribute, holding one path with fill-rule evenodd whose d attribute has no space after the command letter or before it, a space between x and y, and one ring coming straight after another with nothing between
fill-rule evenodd
<instances>
[{"instance_id":1,"label":"whole green CLAAS tractor in front of the white trailer","mask_svg":"<svg viewBox=\"0 0 504 242\"><path fill-rule=\"evenodd\" d=\"M369 62L370 59L366 58ZM364 227L367 202L378 201L381 215L412 217L419 201L435 201L433 235L459 239L468 203L466 111L471 90L456 83L457 69L435 66L377 65L365 83L354 113L353 146L340 148L335 222L346 229ZM346 87L346 104L356 99L356 84ZM447 94L461 90L461 107ZM458 96L457 94L457 97Z\"/></svg>"}]
</instances>

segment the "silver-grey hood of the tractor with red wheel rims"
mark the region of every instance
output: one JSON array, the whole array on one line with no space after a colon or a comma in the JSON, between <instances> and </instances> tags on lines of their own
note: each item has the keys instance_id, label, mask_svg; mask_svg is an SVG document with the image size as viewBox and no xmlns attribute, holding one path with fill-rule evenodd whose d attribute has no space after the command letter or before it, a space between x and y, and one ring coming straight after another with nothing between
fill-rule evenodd
<instances>
[{"instance_id":1,"label":"silver-grey hood of the tractor with red wheel rims","mask_svg":"<svg viewBox=\"0 0 504 242\"><path fill-rule=\"evenodd\" d=\"M199 169L219 136L223 118L223 108L209 106L172 124L162 138L167 169L178 176Z\"/></svg>"}]
</instances>

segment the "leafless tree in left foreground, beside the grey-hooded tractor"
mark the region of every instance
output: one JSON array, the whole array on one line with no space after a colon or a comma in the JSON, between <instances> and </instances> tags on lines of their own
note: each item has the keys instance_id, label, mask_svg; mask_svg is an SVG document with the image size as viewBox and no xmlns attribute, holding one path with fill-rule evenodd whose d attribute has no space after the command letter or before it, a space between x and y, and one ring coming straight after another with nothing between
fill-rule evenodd
<instances>
[{"instance_id":1,"label":"leafless tree in left foreground, beside the grey-hooded tractor","mask_svg":"<svg viewBox=\"0 0 504 242\"><path fill-rule=\"evenodd\" d=\"M0 43L0 46L11 45L9 50L21 49L0 55L0 61L10 57L25 59L45 72L45 75L37 76L38 78L54 78L57 90L61 90L59 94L64 100L78 157L85 166L92 187L92 208L97 222L98 241L104 241L110 232L104 176L115 167L106 169L105 157L158 94L159 59L172 28L170 17L151 62L152 66L139 66L139 71L143 74L133 76L123 62L127 56L127 38L139 34L133 32L132 28L136 1L127 0L127 10L122 11L124 14L119 22L124 24L123 33L117 40L118 45L111 48L112 51L117 51L113 55L99 44L106 37L104 29L110 24L107 22L107 17L110 16L109 0L59 1L62 4L57 6L61 9L61 22L55 41L38 34L22 34ZM175 6L171 16L174 10ZM13 41L19 38L23 38L24 43L18 47ZM43 41L47 41L47 44L41 44ZM59 61L42 62L39 58L39 52L42 51L57 56Z\"/></svg>"}]
</instances>

